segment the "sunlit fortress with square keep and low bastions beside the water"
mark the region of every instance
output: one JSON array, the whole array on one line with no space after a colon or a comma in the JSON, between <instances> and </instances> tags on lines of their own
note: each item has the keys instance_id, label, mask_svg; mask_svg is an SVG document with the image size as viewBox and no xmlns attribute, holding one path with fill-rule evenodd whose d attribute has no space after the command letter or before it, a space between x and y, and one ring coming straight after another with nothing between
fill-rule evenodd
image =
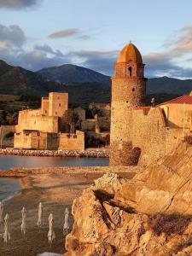
<instances>
[{"instance_id":1,"label":"sunlit fortress with square keep and low bastions beside the water","mask_svg":"<svg viewBox=\"0 0 192 256\"><path fill-rule=\"evenodd\" d=\"M50 92L49 97L42 97L41 108L20 111L14 148L84 150L84 132L60 132L60 118L67 108L67 93Z\"/></svg>"}]
</instances>

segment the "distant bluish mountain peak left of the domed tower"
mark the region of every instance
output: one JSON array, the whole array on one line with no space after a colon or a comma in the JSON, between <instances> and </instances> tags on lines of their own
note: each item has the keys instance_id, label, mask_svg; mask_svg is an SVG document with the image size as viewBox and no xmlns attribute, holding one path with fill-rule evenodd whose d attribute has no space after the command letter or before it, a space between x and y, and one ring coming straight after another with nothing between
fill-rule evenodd
<instances>
[{"instance_id":1,"label":"distant bluish mountain peak left of the domed tower","mask_svg":"<svg viewBox=\"0 0 192 256\"><path fill-rule=\"evenodd\" d=\"M67 83L102 83L110 84L110 77L89 68L65 64L60 67L48 67L38 71L45 79L62 84Z\"/></svg>"}]
</instances>

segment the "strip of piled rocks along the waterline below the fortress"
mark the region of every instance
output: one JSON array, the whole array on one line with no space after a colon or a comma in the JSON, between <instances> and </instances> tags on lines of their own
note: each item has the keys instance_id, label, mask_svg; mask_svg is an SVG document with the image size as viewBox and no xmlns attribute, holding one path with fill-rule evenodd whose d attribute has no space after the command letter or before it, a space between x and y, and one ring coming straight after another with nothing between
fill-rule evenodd
<instances>
[{"instance_id":1,"label":"strip of piled rocks along the waterline below the fortress","mask_svg":"<svg viewBox=\"0 0 192 256\"><path fill-rule=\"evenodd\" d=\"M88 158L109 158L109 149L86 149L86 150L32 150L2 148L1 155L18 156L39 156L39 157L88 157Z\"/></svg>"}]
</instances>

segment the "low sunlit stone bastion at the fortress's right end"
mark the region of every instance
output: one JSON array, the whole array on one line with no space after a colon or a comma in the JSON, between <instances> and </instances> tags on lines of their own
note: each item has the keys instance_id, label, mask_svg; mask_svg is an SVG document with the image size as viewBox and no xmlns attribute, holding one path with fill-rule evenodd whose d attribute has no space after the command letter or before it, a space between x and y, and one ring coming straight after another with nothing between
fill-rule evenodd
<instances>
[{"instance_id":1,"label":"low sunlit stone bastion at the fortress's right end","mask_svg":"<svg viewBox=\"0 0 192 256\"><path fill-rule=\"evenodd\" d=\"M59 141L59 149L62 150L84 150L84 132L76 131L76 133L61 133Z\"/></svg>"}]
</instances>

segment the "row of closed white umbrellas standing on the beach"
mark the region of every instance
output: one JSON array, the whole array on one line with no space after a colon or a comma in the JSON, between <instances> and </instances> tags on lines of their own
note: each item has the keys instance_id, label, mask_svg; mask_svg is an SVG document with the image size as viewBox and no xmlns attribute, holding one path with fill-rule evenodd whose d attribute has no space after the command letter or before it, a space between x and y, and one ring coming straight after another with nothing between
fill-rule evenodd
<instances>
[{"instance_id":1,"label":"row of closed white umbrellas standing on the beach","mask_svg":"<svg viewBox=\"0 0 192 256\"><path fill-rule=\"evenodd\" d=\"M44 207L42 202L38 204L38 227L42 227L44 224ZM64 224L63 224L63 235L66 236L69 231L69 210L68 208L65 209L64 213ZM10 232L9 232L9 213L5 214L3 219L3 202L0 201L0 233L3 231L3 241L8 243L10 240ZM20 224L20 231L22 236L26 236L26 208L23 207L21 210L21 224ZM54 231L54 215L52 213L49 214L49 232L48 232L48 241L51 245L52 242L55 240L55 231Z\"/></svg>"}]
</instances>

